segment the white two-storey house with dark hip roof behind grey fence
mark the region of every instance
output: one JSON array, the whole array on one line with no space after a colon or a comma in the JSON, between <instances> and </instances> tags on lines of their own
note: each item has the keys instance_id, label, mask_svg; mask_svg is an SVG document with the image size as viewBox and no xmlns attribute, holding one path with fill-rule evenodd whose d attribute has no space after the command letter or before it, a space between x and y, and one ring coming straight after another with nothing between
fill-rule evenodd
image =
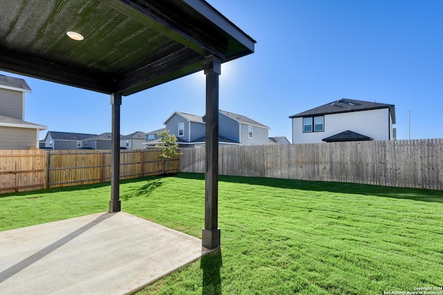
<instances>
[{"instance_id":1,"label":"white two-storey house with dark hip roof behind grey fence","mask_svg":"<svg viewBox=\"0 0 443 295\"><path fill-rule=\"evenodd\" d=\"M396 137L393 104L343 98L289 118L294 144Z\"/></svg>"}]
</instances>

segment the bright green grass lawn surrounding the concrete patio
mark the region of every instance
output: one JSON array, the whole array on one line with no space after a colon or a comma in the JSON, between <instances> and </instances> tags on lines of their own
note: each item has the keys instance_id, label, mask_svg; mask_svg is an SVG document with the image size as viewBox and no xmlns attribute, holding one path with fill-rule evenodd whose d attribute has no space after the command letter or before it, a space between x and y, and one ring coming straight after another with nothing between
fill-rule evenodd
<instances>
[{"instance_id":1,"label":"bright green grass lawn surrounding the concrete patio","mask_svg":"<svg viewBox=\"0 0 443 295\"><path fill-rule=\"evenodd\" d=\"M0 195L0 230L107 211L109 184ZM204 175L122 182L122 209L201 237ZM443 286L443 192L221 176L222 247L141 294L383 294Z\"/></svg>"}]
</instances>

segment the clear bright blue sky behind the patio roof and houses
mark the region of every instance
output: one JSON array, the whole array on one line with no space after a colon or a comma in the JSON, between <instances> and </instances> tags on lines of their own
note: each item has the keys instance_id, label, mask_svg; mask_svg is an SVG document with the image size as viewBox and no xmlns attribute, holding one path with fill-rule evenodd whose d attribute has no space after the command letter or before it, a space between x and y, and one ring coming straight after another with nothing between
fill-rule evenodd
<instances>
[{"instance_id":1,"label":"clear bright blue sky behind the patio roof and houses","mask_svg":"<svg viewBox=\"0 0 443 295\"><path fill-rule=\"evenodd\" d=\"M395 104L398 139L408 139L409 111L411 139L443 137L443 1L208 2L257 41L255 53L223 64L221 109L291 140L290 115L340 98L376 101ZM26 121L50 131L111 130L108 95L25 79L33 89ZM195 73L123 97L121 133L162 128L174 111L204 115L204 81Z\"/></svg>"}]
</instances>

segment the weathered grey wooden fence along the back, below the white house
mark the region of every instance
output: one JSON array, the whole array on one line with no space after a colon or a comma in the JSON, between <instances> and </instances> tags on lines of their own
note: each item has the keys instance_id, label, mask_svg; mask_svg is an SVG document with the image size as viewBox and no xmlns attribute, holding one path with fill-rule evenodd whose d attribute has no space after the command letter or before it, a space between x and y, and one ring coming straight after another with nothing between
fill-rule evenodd
<instances>
[{"instance_id":1,"label":"weathered grey wooden fence along the back, below the white house","mask_svg":"<svg viewBox=\"0 0 443 295\"><path fill-rule=\"evenodd\" d=\"M180 151L180 171L205 171L205 149ZM221 146L219 173L443 190L443 140Z\"/></svg>"}]
</instances>

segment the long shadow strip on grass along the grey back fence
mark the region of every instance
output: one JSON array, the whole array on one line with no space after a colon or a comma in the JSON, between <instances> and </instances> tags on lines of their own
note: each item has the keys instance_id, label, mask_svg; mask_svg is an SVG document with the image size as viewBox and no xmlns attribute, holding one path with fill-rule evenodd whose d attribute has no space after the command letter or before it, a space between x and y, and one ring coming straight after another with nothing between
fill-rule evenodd
<instances>
[{"instance_id":1,"label":"long shadow strip on grass along the grey back fence","mask_svg":"<svg viewBox=\"0 0 443 295\"><path fill-rule=\"evenodd\" d=\"M177 178L204 180L202 173L179 173ZM443 203L443 191L431 189L413 189L404 187L383 187L371 184L357 184L350 182L324 182L309 180L290 180L280 178L258 178L245 176L219 175L221 182L261 185L279 189L301 189L304 191L329 191L331 193L350 193L363 196L379 196L384 198L398 198L423 202Z\"/></svg>"}]
</instances>

